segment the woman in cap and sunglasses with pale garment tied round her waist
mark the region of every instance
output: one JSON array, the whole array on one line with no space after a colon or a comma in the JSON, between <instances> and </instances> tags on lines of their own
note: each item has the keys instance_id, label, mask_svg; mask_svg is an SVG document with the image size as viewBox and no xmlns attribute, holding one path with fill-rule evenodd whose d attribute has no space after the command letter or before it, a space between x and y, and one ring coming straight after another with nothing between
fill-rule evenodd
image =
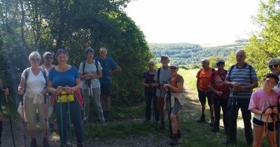
<instances>
[{"instance_id":1,"label":"woman in cap and sunglasses with pale garment tied round her waist","mask_svg":"<svg viewBox=\"0 0 280 147\"><path fill-rule=\"evenodd\" d=\"M179 75L177 72L179 70L179 65L172 63L169 66L171 70L171 76L168 79L168 83L163 85L166 90L170 90L171 99L171 113L170 120L172 122L172 141L169 142L170 146L176 146L178 144L178 139L181 138L181 123L179 110L183 105L183 76ZM165 105L166 106L166 105Z\"/></svg>"}]
</instances>

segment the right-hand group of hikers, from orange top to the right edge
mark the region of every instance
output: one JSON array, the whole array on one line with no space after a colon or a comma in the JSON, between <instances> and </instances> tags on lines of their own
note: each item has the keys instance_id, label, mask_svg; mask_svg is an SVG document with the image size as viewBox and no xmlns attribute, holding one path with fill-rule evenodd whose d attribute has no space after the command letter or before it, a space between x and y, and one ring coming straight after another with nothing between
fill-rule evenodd
<instances>
[{"instance_id":1,"label":"right-hand group of hikers, from orange top to the right edge","mask_svg":"<svg viewBox=\"0 0 280 147\"><path fill-rule=\"evenodd\" d=\"M225 144L237 144L237 117L241 109L247 144L254 147L261 146L263 135L267 132L268 145L277 146L280 60L276 58L269 60L268 67L271 73L267 73L262 78L262 88L253 92L253 88L258 87L258 76L253 66L247 64L245 59L245 50L237 50L237 64L230 66L228 71L224 69L223 59L216 61L217 71L209 67L209 59L202 59L202 69L196 76L201 104L201 116L197 123L207 121L205 106L208 102L210 125L213 126L211 131L218 132L222 109L223 126L225 134L228 134ZM251 113L253 113L253 130Z\"/></svg>"}]
</instances>

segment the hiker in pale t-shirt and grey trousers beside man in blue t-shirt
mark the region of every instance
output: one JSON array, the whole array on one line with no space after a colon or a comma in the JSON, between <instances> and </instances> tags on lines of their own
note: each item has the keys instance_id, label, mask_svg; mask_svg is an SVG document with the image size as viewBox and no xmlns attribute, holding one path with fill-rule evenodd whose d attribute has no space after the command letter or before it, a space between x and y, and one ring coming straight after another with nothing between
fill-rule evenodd
<instances>
[{"instance_id":1,"label":"hiker in pale t-shirt and grey trousers beside man in blue t-shirt","mask_svg":"<svg viewBox=\"0 0 280 147\"><path fill-rule=\"evenodd\" d=\"M100 102L100 82L99 78L102 78L102 66L97 60L94 60L94 50L92 48L85 48L85 57L87 58L84 62L80 63L78 73L82 80L82 92L84 99L84 123L92 123L94 118L94 107L97 111L97 116L100 123L105 125L105 119L103 115L103 109Z\"/></svg>"}]
</instances>

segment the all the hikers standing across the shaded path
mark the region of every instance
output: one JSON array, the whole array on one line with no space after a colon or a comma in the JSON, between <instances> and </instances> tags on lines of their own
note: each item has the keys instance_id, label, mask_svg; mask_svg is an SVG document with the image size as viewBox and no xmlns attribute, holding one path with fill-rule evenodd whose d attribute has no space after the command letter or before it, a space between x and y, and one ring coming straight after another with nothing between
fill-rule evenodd
<instances>
[{"instance_id":1,"label":"all the hikers standing across the shaded path","mask_svg":"<svg viewBox=\"0 0 280 147\"><path fill-rule=\"evenodd\" d=\"M72 146L72 135L67 137L67 125L76 133L77 146L84 145L83 123L92 123L92 112L96 111L99 122L106 125L110 110L111 75L121 71L120 66L111 57L107 57L107 49L99 49L99 57L94 57L92 48L85 49L85 61L78 69L67 64L69 53L58 49L55 58L58 64L52 64L52 53L44 52L44 64L40 66L41 55L34 51L29 55L30 67L22 72L18 94L22 116L22 124L27 121L27 130L31 138L30 146L36 143L36 113L43 128L43 146L49 146L47 130L53 131L52 111L57 118L57 130L61 146ZM272 71L262 79L263 87L258 87L255 69L245 62L245 50L236 51L237 64L224 69L225 61L218 59L218 70L209 67L209 59L202 59L202 69L197 72L197 92L201 104L201 116L197 123L205 123L206 102L210 108L210 125L212 132L220 130L221 109L223 125L228 134L225 144L237 141L237 117L241 109L244 120L244 132L248 145L260 146L262 137L267 132L267 143L276 146L275 125L277 121L280 97L280 59L270 59L268 67ZM165 130L165 112L168 112L170 146L176 146L181 138L181 119L179 111L183 106L183 76L179 75L179 64L169 65L168 55L161 55L162 66L155 70L155 62L148 62L148 71L143 73L142 84L146 100L146 119L151 121L151 107L156 130ZM81 93L80 93L81 89ZM9 94L0 80L1 93ZM82 97L83 94L83 97ZM82 109L84 112L82 115ZM1 108L1 101L0 101ZM94 110L92 109L94 108ZM75 111L72 111L75 110ZM253 130L251 127L253 113ZM0 109L0 139L3 114ZM48 126L47 126L48 125ZM25 126L24 126L25 128ZM70 127L71 132L71 127ZM25 135L25 132L24 132ZM69 142L69 138L70 141ZM24 137L25 139L25 137ZM1 146L1 140L0 140Z\"/></svg>"}]
</instances>

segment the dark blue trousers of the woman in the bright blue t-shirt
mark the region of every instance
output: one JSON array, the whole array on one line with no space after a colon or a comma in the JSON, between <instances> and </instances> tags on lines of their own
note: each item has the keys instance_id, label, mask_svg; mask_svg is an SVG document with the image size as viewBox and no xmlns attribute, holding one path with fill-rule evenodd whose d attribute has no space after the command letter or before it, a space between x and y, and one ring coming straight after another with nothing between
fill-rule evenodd
<instances>
[{"instance_id":1,"label":"dark blue trousers of the woman in the bright blue t-shirt","mask_svg":"<svg viewBox=\"0 0 280 147\"><path fill-rule=\"evenodd\" d=\"M62 103L62 108L60 108L60 103L57 103L57 101L55 101L53 105L54 105L53 109L55 111L55 115L57 116L57 127L58 127L60 141L67 141L66 122L69 122L69 115L67 115L68 104L67 102ZM83 130L83 124L81 118L80 104L78 103L77 99L74 99L74 101L69 102L69 106L71 111L70 116L75 129L77 142L78 144L82 144L84 139L84 130ZM62 110L62 116L60 116L60 109ZM63 132L63 136L62 136L62 132Z\"/></svg>"}]
</instances>

